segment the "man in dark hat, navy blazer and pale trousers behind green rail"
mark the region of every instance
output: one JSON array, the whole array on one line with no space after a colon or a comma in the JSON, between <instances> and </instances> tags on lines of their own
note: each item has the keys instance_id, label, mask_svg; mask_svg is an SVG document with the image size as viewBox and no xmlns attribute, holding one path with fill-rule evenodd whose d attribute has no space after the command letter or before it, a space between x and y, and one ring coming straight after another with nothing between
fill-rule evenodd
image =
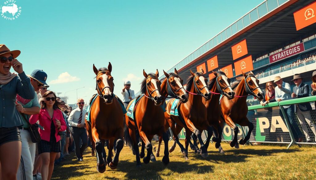
<instances>
[{"instance_id":1,"label":"man in dark hat, navy blazer and pale trousers behind green rail","mask_svg":"<svg viewBox=\"0 0 316 180\"><path fill-rule=\"evenodd\" d=\"M294 81L294 84L296 86L293 87L292 98L302 98L302 97L309 96L308 85L302 83L302 80L303 79L301 78L300 74L294 74L292 81ZM294 112L296 113L302 125L302 129L306 137L306 142L312 142L308 133L306 122L311 128L311 130L313 131L314 136L316 136L315 124L312 121L311 112L310 112L311 110L312 110L312 106L309 102L295 104L294 106ZM316 141L316 137L315 137L315 141Z\"/></svg>"}]
</instances>

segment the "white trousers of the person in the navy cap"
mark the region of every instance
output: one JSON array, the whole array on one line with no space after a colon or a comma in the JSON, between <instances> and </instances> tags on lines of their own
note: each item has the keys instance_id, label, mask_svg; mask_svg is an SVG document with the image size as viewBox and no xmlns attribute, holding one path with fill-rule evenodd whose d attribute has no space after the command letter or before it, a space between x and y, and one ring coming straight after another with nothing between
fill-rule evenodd
<instances>
[{"instance_id":1,"label":"white trousers of the person in the navy cap","mask_svg":"<svg viewBox=\"0 0 316 180\"><path fill-rule=\"evenodd\" d=\"M35 143L32 142L30 133L21 130L22 153L16 178L18 180L33 180L33 168L35 160Z\"/></svg>"}]
</instances>

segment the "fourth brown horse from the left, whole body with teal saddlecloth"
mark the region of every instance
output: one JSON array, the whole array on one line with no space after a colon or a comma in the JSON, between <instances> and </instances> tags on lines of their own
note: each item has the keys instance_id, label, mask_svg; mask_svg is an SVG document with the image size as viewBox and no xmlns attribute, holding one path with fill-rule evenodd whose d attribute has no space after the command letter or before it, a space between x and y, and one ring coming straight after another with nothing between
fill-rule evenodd
<instances>
[{"instance_id":1,"label":"fourth brown horse from the left, whole body with teal saddlecloth","mask_svg":"<svg viewBox=\"0 0 316 180\"><path fill-rule=\"evenodd\" d=\"M170 110L174 99L168 101L165 112L166 122L169 123L169 126L173 132L174 140L181 148L182 154L185 156L185 159L188 159L188 146L190 141L191 133L186 133L185 137L185 148L179 142L178 134L181 129L184 127L186 132L193 132L200 141L201 144L201 155L202 157L207 157L207 147L209 142L203 143L201 132L203 130L208 131L208 136L212 136L213 129L207 121L207 111L206 107L202 102L202 99L210 100L211 93L207 88L207 79L203 76L204 72L193 73L190 70L191 76L187 80L186 90L189 92L189 100L186 103L180 103L179 105L179 116L171 115ZM177 124L177 125L175 125ZM169 152L172 152L171 149Z\"/></svg>"}]
</instances>

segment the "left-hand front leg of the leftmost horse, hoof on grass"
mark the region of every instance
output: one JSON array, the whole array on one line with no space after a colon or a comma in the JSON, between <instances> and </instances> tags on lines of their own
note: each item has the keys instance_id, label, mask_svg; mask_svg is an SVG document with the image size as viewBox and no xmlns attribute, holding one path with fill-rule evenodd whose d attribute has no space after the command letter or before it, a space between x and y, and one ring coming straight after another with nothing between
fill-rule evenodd
<instances>
[{"instance_id":1,"label":"left-hand front leg of the leftmost horse, hoof on grass","mask_svg":"<svg viewBox=\"0 0 316 180\"><path fill-rule=\"evenodd\" d=\"M97 170L100 173L103 173L106 169L106 165L102 156L102 149L104 149L104 144L101 142L99 134L97 133L97 130L95 128L93 128L92 137L95 142L95 150L97 152Z\"/></svg>"}]
</instances>

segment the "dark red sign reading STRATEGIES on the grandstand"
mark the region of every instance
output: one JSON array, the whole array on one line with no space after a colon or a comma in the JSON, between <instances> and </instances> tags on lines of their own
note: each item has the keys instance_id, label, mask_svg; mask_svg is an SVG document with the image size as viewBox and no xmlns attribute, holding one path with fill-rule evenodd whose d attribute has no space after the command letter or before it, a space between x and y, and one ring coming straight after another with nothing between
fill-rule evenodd
<instances>
[{"instance_id":1,"label":"dark red sign reading STRATEGIES on the grandstand","mask_svg":"<svg viewBox=\"0 0 316 180\"><path fill-rule=\"evenodd\" d=\"M287 57L290 57L292 55L296 55L298 53L301 53L304 50L305 49L304 49L304 44L303 43L297 44L297 45L295 45L293 47L290 47L288 49L280 51L280 52L278 52L276 54L270 55L269 56L269 61L270 61L270 63L276 62L276 61L280 61L280 60L285 59Z\"/></svg>"}]
</instances>

